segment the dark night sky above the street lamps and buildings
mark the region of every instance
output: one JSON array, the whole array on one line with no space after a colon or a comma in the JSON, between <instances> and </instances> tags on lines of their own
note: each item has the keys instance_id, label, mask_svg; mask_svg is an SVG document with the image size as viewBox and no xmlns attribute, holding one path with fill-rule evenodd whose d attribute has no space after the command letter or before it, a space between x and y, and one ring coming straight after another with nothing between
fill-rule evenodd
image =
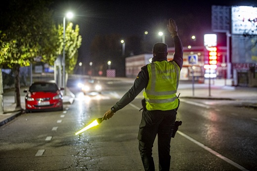
<instances>
[{"instance_id":1,"label":"dark night sky above the street lamps and buildings","mask_svg":"<svg viewBox=\"0 0 257 171\"><path fill-rule=\"evenodd\" d=\"M125 38L131 35L143 37L144 32L148 31L148 37L153 42L161 42L158 32L164 30L167 35L169 34L167 30L169 18L176 21L180 35L187 34L189 39L195 35L196 42L202 45L204 34L214 33L211 28L212 5L257 6L257 2L256 0L55 0L53 9L60 23L65 11L71 10L75 13L72 22L80 26L83 39L79 49L79 60L81 60L88 57L89 46L95 35L120 34ZM221 44L223 36L224 34L218 35L218 42Z\"/></svg>"}]
</instances>

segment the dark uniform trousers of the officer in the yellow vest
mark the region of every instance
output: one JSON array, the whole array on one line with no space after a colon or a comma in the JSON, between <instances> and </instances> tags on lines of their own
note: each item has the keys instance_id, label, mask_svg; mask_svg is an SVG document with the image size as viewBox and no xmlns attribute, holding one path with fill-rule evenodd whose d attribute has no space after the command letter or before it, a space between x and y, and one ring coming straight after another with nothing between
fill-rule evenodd
<instances>
[{"instance_id":1,"label":"dark uniform trousers of the officer in the yellow vest","mask_svg":"<svg viewBox=\"0 0 257 171\"><path fill-rule=\"evenodd\" d=\"M152 147L158 134L159 170L170 171L171 134L176 120L176 110L143 111L139 125L139 152L145 171L155 171Z\"/></svg>"}]
</instances>

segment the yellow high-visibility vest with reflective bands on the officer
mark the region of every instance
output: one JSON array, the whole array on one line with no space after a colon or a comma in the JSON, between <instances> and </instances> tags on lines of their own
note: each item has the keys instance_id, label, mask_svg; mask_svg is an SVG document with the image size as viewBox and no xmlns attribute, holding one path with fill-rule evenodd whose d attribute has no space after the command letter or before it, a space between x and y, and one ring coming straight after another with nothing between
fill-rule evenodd
<instances>
[{"instance_id":1,"label":"yellow high-visibility vest with reflective bands on the officer","mask_svg":"<svg viewBox=\"0 0 257 171\"><path fill-rule=\"evenodd\" d=\"M144 90L147 110L177 108L176 91L180 68L174 61L156 61L147 65L149 82Z\"/></svg>"}]
</instances>

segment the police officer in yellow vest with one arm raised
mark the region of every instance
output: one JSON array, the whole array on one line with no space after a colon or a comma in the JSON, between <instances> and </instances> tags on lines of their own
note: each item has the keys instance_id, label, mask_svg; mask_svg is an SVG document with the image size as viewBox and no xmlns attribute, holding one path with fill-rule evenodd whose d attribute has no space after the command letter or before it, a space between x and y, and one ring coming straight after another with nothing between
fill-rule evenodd
<instances>
[{"instance_id":1,"label":"police officer in yellow vest with one arm raised","mask_svg":"<svg viewBox=\"0 0 257 171\"><path fill-rule=\"evenodd\" d=\"M167 44L154 44L152 63L141 68L133 86L120 101L105 112L102 119L110 119L144 89L144 110L139 125L138 140L145 171L155 170L152 147L157 134L159 170L170 171L171 134L178 107L176 90L183 64L183 47L174 20L170 19L167 26L175 47L173 60L167 60Z\"/></svg>"}]
</instances>

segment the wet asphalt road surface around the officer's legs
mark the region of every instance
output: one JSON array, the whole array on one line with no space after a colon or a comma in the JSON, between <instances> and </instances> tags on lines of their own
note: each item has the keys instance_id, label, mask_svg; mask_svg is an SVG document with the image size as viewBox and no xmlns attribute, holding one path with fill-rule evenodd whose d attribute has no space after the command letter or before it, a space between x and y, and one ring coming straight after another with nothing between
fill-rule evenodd
<instances>
[{"instance_id":1,"label":"wet asphalt road surface around the officer's legs","mask_svg":"<svg viewBox=\"0 0 257 171\"><path fill-rule=\"evenodd\" d=\"M23 114L0 128L0 171L143 171L137 133L142 94L113 118L75 135L131 87L106 81L101 94L76 87L64 111ZM76 85L69 84L69 85ZM108 87L108 88L107 88ZM257 170L256 110L230 101L181 98L171 171ZM153 147L158 170L157 144Z\"/></svg>"}]
</instances>

